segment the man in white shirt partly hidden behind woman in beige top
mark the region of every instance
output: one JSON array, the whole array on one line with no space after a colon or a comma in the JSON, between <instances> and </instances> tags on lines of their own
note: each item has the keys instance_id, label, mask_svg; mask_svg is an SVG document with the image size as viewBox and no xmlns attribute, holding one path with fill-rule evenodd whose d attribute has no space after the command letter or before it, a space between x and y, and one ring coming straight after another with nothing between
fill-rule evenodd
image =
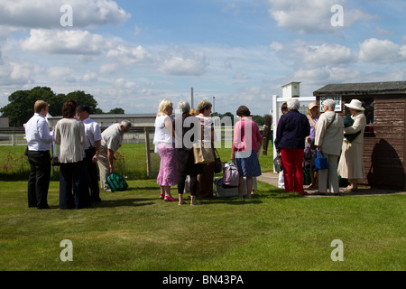
<instances>
[{"instance_id":1,"label":"man in white shirt partly hidden behind woman in beige top","mask_svg":"<svg viewBox=\"0 0 406 289\"><path fill-rule=\"evenodd\" d=\"M100 154L101 131L97 122L90 118L91 109L88 106L78 107L78 119L85 125L86 144L85 163L88 171L88 185L92 202L100 202L100 190L97 178L97 159Z\"/></svg>"}]
</instances>

